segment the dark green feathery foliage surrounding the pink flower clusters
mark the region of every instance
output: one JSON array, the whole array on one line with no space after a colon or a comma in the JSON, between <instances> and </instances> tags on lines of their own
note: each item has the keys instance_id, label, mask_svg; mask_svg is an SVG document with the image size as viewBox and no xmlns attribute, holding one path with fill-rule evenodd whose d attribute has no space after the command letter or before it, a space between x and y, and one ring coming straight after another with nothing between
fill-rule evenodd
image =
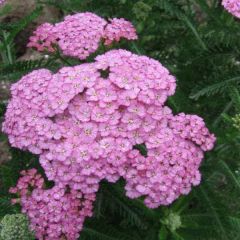
<instances>
[{"instance_id":1,"label":"dark green feathery foliage surrounding the pink flower clusters","mask_svg":"<svg viewBox=\"0 0 240 240\"><path fill-rule=\"evenodd\" d=\"M169 207L152 210L142 199L129 200L124 182L103 182L81 240L238 240L240 239L240 130L232 117L240 113L240 22L218 0L42 0L62 17L92 11L103 17L131 20L139 40L116 44L159 60L177 77L176 94L168 105L175 113L203 117L217 136L217 144L201 166L202 183ZM4 8L0 15L10 11ZM1 79L15 81L33 69L56 71L79 61L56 53L48 59L16 61L13 40L41 7L22 21L1 25ZM99 52L103 52L102 46ZM98 53L99 53L98 52ZM96 53L96 54L98 54ZM93 56L91 56L91 59ZM0 104L0 116L5 103ZM1 136L1 141L6 138ZM147 154L144 146L136 148ZM21 169L35 166L36 157L11 149L12 160L0 166L0 218L19 212L10 205L8 188Z\"/></svg>"}]
</instances>

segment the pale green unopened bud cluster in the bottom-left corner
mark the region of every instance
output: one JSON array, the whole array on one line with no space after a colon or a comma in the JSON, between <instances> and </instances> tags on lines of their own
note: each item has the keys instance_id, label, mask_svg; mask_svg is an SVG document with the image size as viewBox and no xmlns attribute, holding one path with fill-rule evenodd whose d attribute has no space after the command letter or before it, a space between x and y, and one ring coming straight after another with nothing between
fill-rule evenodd
<instances>
[{"instance_id":1,"label":"pale green unopened bud cluster in the bottom-left corner","mask_svg":"<svg viewBox=\"0 0 240 240\"><path fill-rule=\"evenodd\" d=\"M33 240L29 221L24 214L7 214L0 221L1 240Z\"/></svg>"}]
</instances>

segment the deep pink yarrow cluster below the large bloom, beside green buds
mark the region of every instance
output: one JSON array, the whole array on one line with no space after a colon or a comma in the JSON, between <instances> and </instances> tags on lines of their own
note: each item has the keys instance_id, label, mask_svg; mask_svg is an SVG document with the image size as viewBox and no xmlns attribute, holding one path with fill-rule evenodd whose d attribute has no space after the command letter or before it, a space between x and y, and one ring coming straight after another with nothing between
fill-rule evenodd
<instances>
[{"instance_id":1,"label":"deep pink yarrow cluster below the large bloom, beside green buds","mask_svg":"<svg viewBox=\"0 0 240 240\"><path fill-rule=\"evenodd\" d=\"M36 238L78 239L86 216L92 216L95 194L83 195L61 185L44 189L44 179L36 169L22 171L21 175L10 192L20 197L22 212L28 215ZM17 201L13 199L13 203Z\"/></svg>"}]
</instances>

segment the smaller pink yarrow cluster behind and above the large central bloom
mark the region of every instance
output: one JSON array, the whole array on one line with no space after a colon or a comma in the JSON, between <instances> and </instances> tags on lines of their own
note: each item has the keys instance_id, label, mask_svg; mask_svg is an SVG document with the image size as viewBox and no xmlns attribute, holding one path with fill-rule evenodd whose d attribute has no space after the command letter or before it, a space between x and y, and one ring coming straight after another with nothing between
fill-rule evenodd
<instances>
[{"instance_id":1,"label":"smaller pink yarrow cluster behind and above the large central bloom","mask_svg":"<svg viewBox=\"0 0 240 240\"><path fill-rule=\"evenodd\" d=\"M55 25L40 25L30 37L28 47L34 47L40 52L53 52L57 45L64 55L84 60L98 49L102 39L105 39L106 45L110 45L121 38L137 39L136 30L129 21L114 18L108 23L86 12L66 16L64 21Z\"/></svg>"}]
</instances>

